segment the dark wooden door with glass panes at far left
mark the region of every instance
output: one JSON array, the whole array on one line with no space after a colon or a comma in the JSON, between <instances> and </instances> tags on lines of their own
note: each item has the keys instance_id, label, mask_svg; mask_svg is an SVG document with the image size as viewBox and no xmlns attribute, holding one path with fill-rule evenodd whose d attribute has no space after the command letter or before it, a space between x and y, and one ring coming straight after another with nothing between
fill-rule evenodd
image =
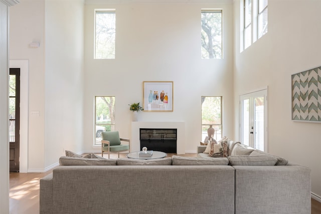
<instances>
[{"instance_id":1,"label":"dark wooden door with glass panes at far left","mask_svg":"<svg viewBox=\"0 0 321 214\"><path fill-rule=\"evenodd\" d=\"M20 68L9 75L9 165L11 172L20 168Z\"/></svg>"}]
</instances>

